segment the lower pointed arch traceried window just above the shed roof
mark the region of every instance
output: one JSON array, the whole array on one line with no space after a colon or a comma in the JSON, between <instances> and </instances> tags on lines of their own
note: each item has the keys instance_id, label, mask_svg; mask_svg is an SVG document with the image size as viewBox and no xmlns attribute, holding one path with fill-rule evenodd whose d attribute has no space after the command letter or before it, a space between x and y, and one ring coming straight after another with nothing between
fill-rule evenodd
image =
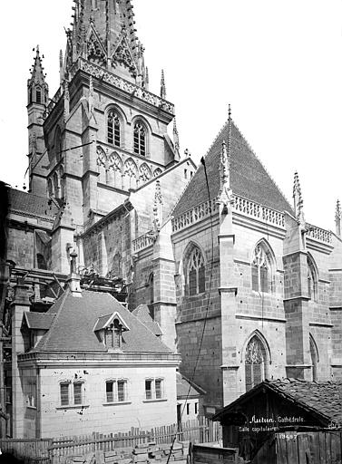
<instances>
[{"instance_id":1,"label":"lower pointed arch traceried window just above the shed roof","mask_svg":"<svg viewBox=\"0 0 342 464\"><path fill-rule=\"evenodd\" d=\"M266 378L267 355L266 350L257 335L254 335L246 348L245 377L246 391L252 389Z\"/></svg>"}]
</instances>

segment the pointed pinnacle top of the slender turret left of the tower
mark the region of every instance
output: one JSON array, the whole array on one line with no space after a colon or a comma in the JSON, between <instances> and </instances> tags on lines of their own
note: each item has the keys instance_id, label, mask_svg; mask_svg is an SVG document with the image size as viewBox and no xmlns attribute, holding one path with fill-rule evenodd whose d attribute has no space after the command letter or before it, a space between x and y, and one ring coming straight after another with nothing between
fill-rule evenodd
<instances>
[{"instance_id":1,"label":"pointed pinnacle top of the slender turret left of the tower","mask_svg":"<svg viewBox=\"0 0 342 464\"><path fill-rule=\"evenodd\" d=\"M39 53L39 45L36 46L34 65L31 70L31 77L27 81L27 102L46 106L49 98L49 87L45 82L44 67Z\"/></svg>"}]
</instances>

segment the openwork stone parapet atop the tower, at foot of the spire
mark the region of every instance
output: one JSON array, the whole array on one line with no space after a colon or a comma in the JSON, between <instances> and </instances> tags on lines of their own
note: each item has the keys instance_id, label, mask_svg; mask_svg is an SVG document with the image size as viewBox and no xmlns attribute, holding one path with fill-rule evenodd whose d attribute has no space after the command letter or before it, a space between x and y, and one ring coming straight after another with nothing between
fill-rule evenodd
<instances>
[{"instance_id":1,"label":"openwork stone parapet atop the tower, at foot of the spire","mask_svg":"<svg viewBox=\"0 0 342 464\"><path fill-rule=\"evenodd\" d=\"M78 70L82 70L93 77L102 79L104 82L108 82L115 87L122 89L122 91L130 93L144 102L151 103L151 105L161 108L161 110L167 111L172 115L174 114L174 105L172 103L163 100L161 97L154 95L154 93L148 92L146 89L142 89L142 87L139 87L132 82L125 81L121 77L104 70L96 64L89 63L83 58L79 58L78 61L73 64L73 68L70 71L70 79L73 79L73 76Z\"/></svg>"}]
</instances>

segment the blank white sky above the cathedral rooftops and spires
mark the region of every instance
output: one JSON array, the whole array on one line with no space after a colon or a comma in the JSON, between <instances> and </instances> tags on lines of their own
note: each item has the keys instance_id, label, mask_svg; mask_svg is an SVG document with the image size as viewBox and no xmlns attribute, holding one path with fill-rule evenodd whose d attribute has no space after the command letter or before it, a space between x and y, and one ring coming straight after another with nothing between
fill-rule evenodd
<instances>
[{"instance_id":1,"label":"blank white sky above the cathedral rooftops and spires","mask_svg":"<svg viewBox=\"0 0 342 464\"><path fill-rule=\"evenodd\" d=\"M0 179L23 186L26 80L40 44L50 97L58 87L72 0L3 2ZM228 104L292 202L297 169L308 222L335 229L342 199L342 2L340 0L133 0L150 90L176 106L181 151L209 149ZM15 7L15 9L14 9ZM20 8L20 14L16 14ZM6 18L6 22L5 22ZM12 18L12 20L11 20Z\"/></svg>"}]
</instances>

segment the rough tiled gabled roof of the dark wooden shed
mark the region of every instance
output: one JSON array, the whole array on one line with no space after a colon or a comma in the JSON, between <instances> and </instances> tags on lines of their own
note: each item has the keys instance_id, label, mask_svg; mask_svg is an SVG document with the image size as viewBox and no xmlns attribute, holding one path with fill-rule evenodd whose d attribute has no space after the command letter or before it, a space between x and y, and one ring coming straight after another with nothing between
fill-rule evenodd
<instances>
[{"instance_id":1,"label":"rough tiled gabled roof of the dark wooden shed","mask_svg":"<svg viewBox=\"0 0 342 464\"><path fill-rule=\"evenodd\" d=\"M261 382L211 419L220 420L225 414L251 401L265 389L277 393L288 401L295 401L299 407L318 415L322 420L342 420L342 382L308 382L299 379Z\"/></svg>"}]
</instances>

